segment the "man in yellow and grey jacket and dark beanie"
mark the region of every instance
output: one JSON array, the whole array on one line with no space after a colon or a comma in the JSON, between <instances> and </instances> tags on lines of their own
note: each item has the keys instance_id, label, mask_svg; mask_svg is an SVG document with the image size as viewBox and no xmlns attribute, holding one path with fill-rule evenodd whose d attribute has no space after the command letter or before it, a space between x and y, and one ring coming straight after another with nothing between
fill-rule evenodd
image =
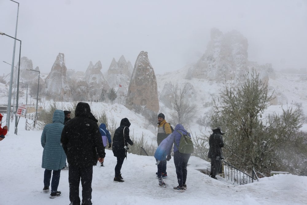
<instances>
[{"instance_id":1,"label":"man in yellow and grey jacket and dark beanie","mask_svg":"<svg viewBox=\"0 0 307 205\"><path fill-rule=\"evenodd\" d=\"M169 134L172 133L170 124L167 123L164 119L165 119L164 114L160 113L158 115L158 134L157 134L158 146L162 142L162 140L164 140ZM168 159L168 160L170 160L170 159ZM167 173L166 173L166 160L163 160L160 163L162 163L161 164L161 166L162 166L162 178L166 178L167 177Z\"/></svg>"}]
</instances>

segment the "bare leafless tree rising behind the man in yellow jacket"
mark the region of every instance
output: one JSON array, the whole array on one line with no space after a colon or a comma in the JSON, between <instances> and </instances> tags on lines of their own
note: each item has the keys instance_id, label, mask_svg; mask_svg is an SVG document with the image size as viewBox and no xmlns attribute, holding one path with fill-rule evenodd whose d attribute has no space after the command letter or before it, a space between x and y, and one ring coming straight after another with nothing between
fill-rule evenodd
<instances>
[{"instance_id":1,"label":"bare leafless tree rising behind the man in yellow jacket","mask_svg":"<svg viewBox=\"0 0 307 205\"><path fill-rule=\"evenodd\" d=\"M178 82L173 87L171 100L173 111L171 118L173 124L189 125L196 115L196 104L190 103L187 97L187 83L179 88Z\"/></svg>"}]
</instances>

